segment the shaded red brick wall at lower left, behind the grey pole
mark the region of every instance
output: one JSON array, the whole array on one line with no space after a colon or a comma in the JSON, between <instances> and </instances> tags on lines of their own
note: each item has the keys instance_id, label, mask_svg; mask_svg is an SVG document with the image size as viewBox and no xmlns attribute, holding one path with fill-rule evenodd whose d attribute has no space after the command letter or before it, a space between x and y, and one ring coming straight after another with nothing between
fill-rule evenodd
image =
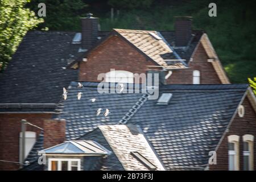
<instances>
[{"instance_id":1,"label":"shaded red brick wall at lower left, behind the grey pole","mask_svg":"<svg viewBox=\"0 0 256 182\"><path fill-rule=\"evenodd\" d=\"M19 133L20 120L27 119L39 127L43 127L44 119L51 118L51 114L0 114L0 160L19 162ZM40 130L27 125L27 131L35 131L38 135ZM14 163L0 162L0 170L15 170L19 165Z\"/></svg>"}]
</instances>

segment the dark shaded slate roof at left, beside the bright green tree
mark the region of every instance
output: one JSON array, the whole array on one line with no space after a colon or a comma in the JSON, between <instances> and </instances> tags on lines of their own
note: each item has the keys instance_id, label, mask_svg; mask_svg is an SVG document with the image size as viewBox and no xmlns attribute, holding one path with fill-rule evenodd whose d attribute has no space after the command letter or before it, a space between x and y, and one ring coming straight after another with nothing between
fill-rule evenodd
<instances>
[{"instance_id":1,"label":"dark shaded slate roof at left, beside the bright green tree","mask_svg":"<svg viewBox=\"0 0 256 182\"><path fill-rule=\"evenodd\" d=\"M68 57L75 57L79 50L79 44L71 44L74 35L75 32L29 31L0 75L0 104L58 103L63 86L77 80L76 70L65 69ZM42 107L32 110L41 111ZM5 105L0 111L7 108L20 111L23 107ZM22 111L32 111L30 108Z\"/></svg>"}]
</instances>

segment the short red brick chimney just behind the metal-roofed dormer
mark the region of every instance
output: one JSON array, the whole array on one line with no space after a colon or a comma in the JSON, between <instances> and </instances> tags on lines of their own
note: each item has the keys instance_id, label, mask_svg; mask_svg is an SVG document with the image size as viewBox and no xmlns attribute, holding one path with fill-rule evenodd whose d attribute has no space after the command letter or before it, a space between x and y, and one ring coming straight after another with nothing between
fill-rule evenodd
<instances>
[{"instance_id":1,"label":"short red brick chimney just behind the metal-roofed dormer","mask_svg":"<svg viewBox=\"0 0 256 182\"><path fill-rule=\"evenodd\" d=\"M66 138L66 121L64 119L45 119L43 129L44 148L64 142Z\"/></svg>"}]
</instances>

